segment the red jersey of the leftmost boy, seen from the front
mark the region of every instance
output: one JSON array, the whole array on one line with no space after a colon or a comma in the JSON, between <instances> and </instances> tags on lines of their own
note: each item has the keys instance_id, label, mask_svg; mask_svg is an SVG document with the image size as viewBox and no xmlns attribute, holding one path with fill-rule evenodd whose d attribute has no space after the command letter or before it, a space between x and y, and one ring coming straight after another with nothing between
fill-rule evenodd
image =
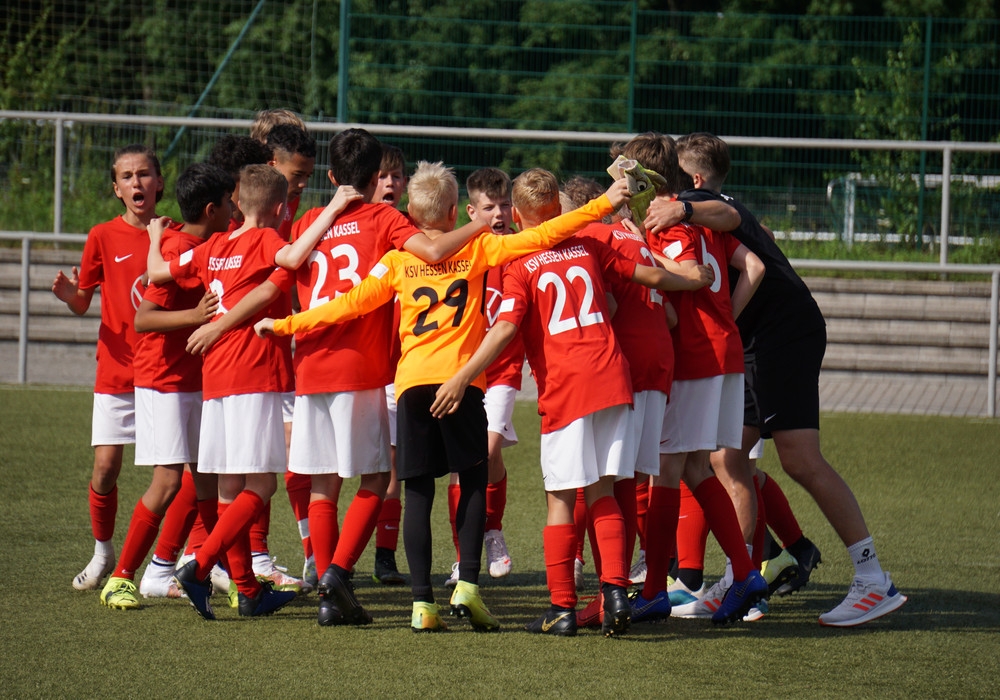
<instances>
[{"instance_id":1,"label":"red jersey of the leftmost boy, seen from the front","mask_svg":"<svg viewBox=\"0 0 1000 700\"><path fill-rule=\"evenodd\" d=\"M133 391L135 310L142 301L149 234L121 216L90 230L80 261L80 289L101 288L96 394Z\"/></svg>"}]
</instances>

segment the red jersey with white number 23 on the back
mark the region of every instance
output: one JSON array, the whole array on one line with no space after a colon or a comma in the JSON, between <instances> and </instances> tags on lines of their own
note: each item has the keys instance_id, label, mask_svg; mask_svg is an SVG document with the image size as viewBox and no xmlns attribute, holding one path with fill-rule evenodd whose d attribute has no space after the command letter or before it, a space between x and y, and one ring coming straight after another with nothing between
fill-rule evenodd
<instances>
[{"instance_id":1,"label":"red jersey with white number 23 on the back","mask_svg":"<svg viewBox=\"0 0 1000 700\"><path fill-rule=\"evenodd\" d=\"M322 213L311 209L295 223L297 238ZM379 259L418 230L384 204L352 204L337 217L296 273L299 302L308 310L345 294L368 276ZM276 318L281 318L277 316ZM375 389L392 382L393 305L352 321L295 337L295 390L299 394Z\"/></svg>"}]
</instances>

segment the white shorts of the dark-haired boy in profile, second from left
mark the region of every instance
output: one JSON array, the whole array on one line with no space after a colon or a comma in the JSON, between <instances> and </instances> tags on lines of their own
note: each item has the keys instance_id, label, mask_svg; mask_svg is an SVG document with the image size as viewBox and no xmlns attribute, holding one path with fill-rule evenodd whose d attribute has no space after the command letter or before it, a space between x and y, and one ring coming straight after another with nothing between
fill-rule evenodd
<instances>
[{"instance_id":1,"label":"white shorts of the dark-haired boy in profile, second from left","mask_svg":"<svg viewBox=\"0 0 1000 700\"><path fill-rule=\"evenodd\" d=\"M190 464L198 459L201 392L135 388L135 463Z\"/></svg>"}]
</instances>

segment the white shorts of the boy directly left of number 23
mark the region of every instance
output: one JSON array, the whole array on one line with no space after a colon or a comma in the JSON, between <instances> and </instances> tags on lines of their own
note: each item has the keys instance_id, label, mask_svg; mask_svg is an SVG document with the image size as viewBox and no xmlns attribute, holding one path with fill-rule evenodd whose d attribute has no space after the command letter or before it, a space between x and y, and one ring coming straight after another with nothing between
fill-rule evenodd
<instances>
[{"instance_id":1,"label":"white shorts of the boy directly left of number 23","mask_svg":"<svg viewBox=\"0 0 1000 700\"><path fill-rule=\"evenodd\" d=\"M236 394L202 405L198 471L280 474L285 471L281 394Z\"/></svg>"}]
</instances>

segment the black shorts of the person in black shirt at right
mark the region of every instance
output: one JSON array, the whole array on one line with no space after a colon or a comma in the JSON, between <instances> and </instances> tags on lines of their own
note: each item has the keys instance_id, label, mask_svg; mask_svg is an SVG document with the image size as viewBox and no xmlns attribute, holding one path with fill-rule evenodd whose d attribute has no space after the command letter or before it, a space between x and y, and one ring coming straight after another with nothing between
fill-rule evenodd
<instances>
[{"instance_id":1,"label":"black shorts of the person in black shirt at right","mask_svg":"<svg viewBox=\"0 0 1000 700\"><path fill-rule=\"evenodd\" d=\"M818 430L826 329L777 347L748 350L744 425L757 425L765 438L776 430Z\"/></svg>"}]
</instances>

